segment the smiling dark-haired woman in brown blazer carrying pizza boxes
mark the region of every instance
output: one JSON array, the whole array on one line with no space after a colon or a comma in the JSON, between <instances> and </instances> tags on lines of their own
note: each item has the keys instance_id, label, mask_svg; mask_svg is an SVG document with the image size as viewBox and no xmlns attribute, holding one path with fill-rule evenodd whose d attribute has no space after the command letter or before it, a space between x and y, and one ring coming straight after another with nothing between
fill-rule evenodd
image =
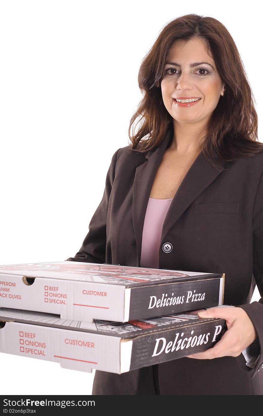
<instances>
[{"instance_id":1,"label":"smiling dark-haired woman in brown blazer carrying pizza boxes","mask_svg":"<svg viewBox=\"0 0 263 416\"><path fill-rule=\"evenodd\" d=\"M256 284L263 296L263 144L236 45L216 19L179 17L138 79L144 97L130 127L143 123L113 155L89 232L67 260L224 272L224 304L236 307L206 312L228 327L213 348L96 371L93 394L263 394L263 297L250 304Z\"/></svg>"}]
</instances>

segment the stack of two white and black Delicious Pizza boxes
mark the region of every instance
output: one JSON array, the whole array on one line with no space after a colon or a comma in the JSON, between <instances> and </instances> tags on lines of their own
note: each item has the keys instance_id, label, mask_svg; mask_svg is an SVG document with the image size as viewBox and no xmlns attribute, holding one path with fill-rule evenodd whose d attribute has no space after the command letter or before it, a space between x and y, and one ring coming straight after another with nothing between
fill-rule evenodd
<instances>
[{"instance_id":1,"label":"stack of two white and black Delicious Pizza boxes","mask_svg":"<svg viewBox=\"0 0 263 416\"><path fill-rule=\"evenodd\" d=\"M0 352L121 374L204 351L226 330L224 274L86 262L0 266Z\"/></svg>"}]
</instances>

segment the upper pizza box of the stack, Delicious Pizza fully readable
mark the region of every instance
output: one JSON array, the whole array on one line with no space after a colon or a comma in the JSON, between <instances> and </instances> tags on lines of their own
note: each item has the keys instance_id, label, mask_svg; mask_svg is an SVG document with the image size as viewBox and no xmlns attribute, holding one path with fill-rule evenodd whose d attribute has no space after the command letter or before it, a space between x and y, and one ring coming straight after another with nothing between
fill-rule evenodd
<instances>
[{"instance_id":1,"label":"upper pizza box of the stack, Delicious Pizza fully readable","mask_svg":"<svg viewBox=\"0 0 263 416\"><path fill-rule=\"evenodd\" d=\"M0 265L0 307L127 322L220 306L224 277L72 261Z\"/></svg>"}]
</instances>

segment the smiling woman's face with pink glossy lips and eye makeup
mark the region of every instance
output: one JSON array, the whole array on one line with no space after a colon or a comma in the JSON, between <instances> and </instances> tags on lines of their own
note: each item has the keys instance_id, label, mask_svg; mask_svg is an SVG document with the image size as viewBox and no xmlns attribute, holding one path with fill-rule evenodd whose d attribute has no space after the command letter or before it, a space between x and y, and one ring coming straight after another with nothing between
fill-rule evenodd
<instances>
[{"instance_id":1,"label":"smiling woman's face with pink glossy lips and eye makeup","mask_svg":"<svg viewBox=\"0 0 263 416\"><path fill-rule=\"evenodd\" d=\"M208 120L220 95L224 94L223 87L214 59L207 54L202 40L177 40L172 45L165 61L161 89L163 102L173 119L178 123ZM177 97L200 99L194 105L180 106L173 99Z\"/></svg>"}]
</instances>

